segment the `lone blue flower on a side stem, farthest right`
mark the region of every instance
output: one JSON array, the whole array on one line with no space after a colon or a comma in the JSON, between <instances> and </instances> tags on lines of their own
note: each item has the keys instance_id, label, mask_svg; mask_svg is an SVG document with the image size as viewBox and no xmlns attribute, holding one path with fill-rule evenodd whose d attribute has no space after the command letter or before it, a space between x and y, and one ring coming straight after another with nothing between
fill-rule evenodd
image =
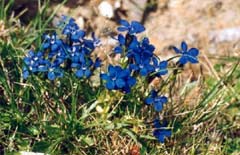
<instances>
[{"instance_id":1,"label":"lone blue flower on a side stem, farthest right","mask_svg":"<svg viewBox=\"0 0 240 155\"><path fill-rule=\"evenodd\" d=\"M188 50L188 46L186 42L182 42L181 49L178 49L177 47L173 47L174 51L177 54L181 54L181 58L179 59L179 64L184 65L187 62L190 63L198 63L197 56L199 54L199 50L196 48L191 48Z\"/></svg>"}]
</instances>

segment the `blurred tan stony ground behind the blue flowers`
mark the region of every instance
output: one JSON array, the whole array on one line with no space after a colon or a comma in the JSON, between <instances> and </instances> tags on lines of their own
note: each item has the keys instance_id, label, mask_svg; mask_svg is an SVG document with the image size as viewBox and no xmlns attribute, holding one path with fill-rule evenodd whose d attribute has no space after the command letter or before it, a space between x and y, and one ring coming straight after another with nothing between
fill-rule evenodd
<instances>
[{"instance_id":1,"label":"blurred tan stony ground behind the blue flowers","mask_svg":"<svg viewBox=\"0 0 240 155\"><path fill-rule=\"evenodd\" d=\"M50 9L61 2L51 0ZM27 10L21 16L27 23L36 15L38 1L15 0L12 8L15 14ZM94 30L107 43L111 43L108 36L115 34L119 19L140 21L156 52L164 57L168 57L166 51L171 45L179 45L182 40L200 48L209 58L239 55L240 1L68 0L53 25L62 14L75 18L81 28Z\"/></svg>"}]
</instances>

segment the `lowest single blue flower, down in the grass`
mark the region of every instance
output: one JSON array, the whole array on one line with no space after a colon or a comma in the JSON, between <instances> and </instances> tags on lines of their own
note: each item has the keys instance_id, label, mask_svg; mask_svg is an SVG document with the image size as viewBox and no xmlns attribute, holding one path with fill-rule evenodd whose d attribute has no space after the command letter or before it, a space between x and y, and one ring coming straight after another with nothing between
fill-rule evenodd
<instances>
[{"instance_id":1,"label":"lowest single blue flower, down in the grass","mask_svg":"<svg viewBox=\"0 0 240 155\"><path fill-rule=\"evenodd\" d=\"M153 127L155 128L153 130L153 135L157 138L157 140L160 143L164 143L164 140L166 137L171 137L171 130L166 129L167 122L164 122L163 124L160 123L158 119L155 119L153 122Z\"/></svg>"}]
</instances>

